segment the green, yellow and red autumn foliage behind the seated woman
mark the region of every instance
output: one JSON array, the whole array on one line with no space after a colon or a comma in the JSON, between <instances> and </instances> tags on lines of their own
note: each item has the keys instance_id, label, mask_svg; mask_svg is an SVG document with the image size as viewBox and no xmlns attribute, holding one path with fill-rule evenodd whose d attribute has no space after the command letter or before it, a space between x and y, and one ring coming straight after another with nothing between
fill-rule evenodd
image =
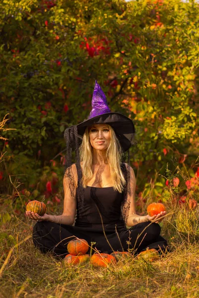
<instances>
[{"instance_id":1,"label":"green, yellow and red autumn foliage behind the seated woman","mask_svg":"<svg viewBox=\"0 0 199 298\"><path fill-rule=\"evenodd\" d=\"M1 133L1 193L12 194L11 175L22 183L15 197L29 191L48 208L60 204L63 132L88 117L98 79L111 111L135 124L140 212L149 193L166 202L172 192L172 204L196 199L197 2L24 0L0 8L0 119L9 113L5 128L16 129Z\"/></svg>"}]
</instances>

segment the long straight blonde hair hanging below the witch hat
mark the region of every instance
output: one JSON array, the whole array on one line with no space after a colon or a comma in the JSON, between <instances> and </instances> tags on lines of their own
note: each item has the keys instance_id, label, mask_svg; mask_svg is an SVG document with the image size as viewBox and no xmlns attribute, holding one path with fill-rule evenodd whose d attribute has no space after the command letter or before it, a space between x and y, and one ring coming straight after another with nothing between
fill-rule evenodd
<instances>
[{"instance_id":1,"label":"long straight blonde hair hanging below the witch hat","mask_svg":"<svg viewBox=\"0 0 199 298\"><path fill-rule=\"evenodd\" d=\"M110 179L115 191L122 192L125 185L124 175L120 167L121 147L114 130L108 125L110 131L110 144L106 150L106 158L110 171ZM82 185L86 187L93 178L93 147L89 140L89 128L86 128L80 147L80 158L82 162L83 178Z\"/></svg>"}]
</instances>

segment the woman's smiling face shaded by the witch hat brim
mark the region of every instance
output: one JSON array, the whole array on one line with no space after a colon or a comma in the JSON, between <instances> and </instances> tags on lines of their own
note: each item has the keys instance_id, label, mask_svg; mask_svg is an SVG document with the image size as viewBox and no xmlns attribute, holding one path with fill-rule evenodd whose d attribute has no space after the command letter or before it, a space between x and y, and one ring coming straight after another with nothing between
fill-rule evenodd
<instances>
[{"instance_id":1,"label":"woman's smiling face shaded by the witch hat brim","mask_svg":"<svg viewBox=\"0 0 199 298\"><path fill-rule=\"evenodd\" d=\"M110 144L110 130L107 124L95 124L89 130L90 143L96 150L105 150Z\"/></svg>"}]
</instances>

